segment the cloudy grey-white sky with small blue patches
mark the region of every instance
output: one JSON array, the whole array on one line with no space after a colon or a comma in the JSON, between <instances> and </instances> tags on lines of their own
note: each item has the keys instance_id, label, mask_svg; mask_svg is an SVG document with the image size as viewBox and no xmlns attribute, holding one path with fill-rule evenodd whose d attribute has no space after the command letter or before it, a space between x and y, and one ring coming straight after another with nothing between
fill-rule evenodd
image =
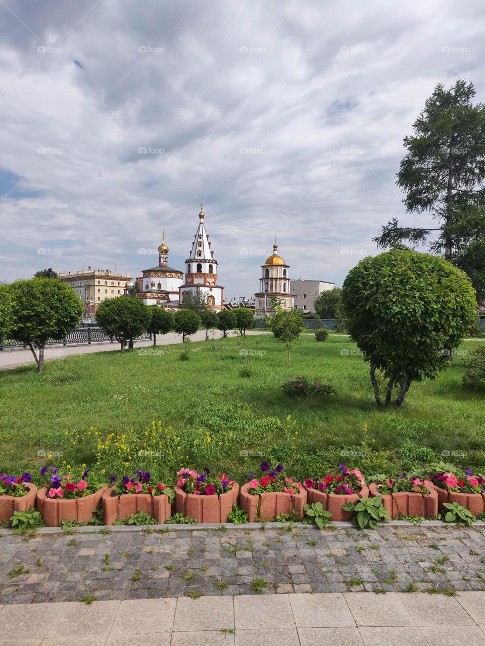
<instances>
[{"instance_id":1,"label":"cloudy grey-white sky with small blue patches","mask_svg":"<svg viewBox=\"0 0 485 646\"><path fill-rule=\"evenodd\" d=\"M341 286L405 213L437 83L485 101L476 0L1 0L0 280L184 269L200 202L224 296L279 253Z\"/></svg>"}]
</instances>

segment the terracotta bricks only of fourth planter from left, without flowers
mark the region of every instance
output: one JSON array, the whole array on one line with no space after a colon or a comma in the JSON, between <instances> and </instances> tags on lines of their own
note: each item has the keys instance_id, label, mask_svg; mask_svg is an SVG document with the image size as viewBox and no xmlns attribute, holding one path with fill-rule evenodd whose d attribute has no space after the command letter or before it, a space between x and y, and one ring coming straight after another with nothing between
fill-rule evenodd
<instances>
[{"instance_id":1,"label":"terracotta bricks only of fourth planter from left, without flowers","mask_svg":"<svg viewBox=\"0 0 485 646\"><path fill-rule=\"evenodd\" d=\"M227 523L228 514L239 497L239 485L219 495L186 494L179 486L175 490L175 512L197 519L197 523Z\"/></svg>"}]
</instances>

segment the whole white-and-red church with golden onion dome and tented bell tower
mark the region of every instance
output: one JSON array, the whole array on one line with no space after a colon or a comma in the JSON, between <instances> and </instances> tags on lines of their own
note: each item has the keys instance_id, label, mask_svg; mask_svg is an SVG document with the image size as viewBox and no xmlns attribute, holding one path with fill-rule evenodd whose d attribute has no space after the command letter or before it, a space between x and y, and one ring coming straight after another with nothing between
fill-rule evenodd
<instances>
[{"instance_id":1,"label":"whole white-and-red church with golden onion dome and tented bell tower","mask_svg":"<svg viewBox=\"0 0 485 646\"><path fill-rule=\"evenodd\" d=\"M217 260L204 227L204 217L201 204L199 226L189 257L185 261L185 280L182 271L169 267L169 249L165 243L165 233L162 234L162 244L158 247L158 266L144 269L143 275L136 278L139 289L136 297L146 305L160 305L165 309L175 310L180 308L184 294L200 293L206 298L210 309L223 309L224 288L217 284Z\"/></svg>"}]
</instances>

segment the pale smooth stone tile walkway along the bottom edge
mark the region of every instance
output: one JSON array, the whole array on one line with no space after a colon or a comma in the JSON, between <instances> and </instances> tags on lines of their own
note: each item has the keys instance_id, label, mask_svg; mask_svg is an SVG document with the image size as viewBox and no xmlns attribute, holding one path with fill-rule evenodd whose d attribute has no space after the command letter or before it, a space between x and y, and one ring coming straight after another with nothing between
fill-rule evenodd
<instances>
[{"instance_id":1,"label":"pale smooth stone tile walkway along the bottom edge","mask_svg":"<svg viewBox=\"0 0 485 646\"><path fill-rule=\"evenodd\" d=\"M485 592L356 592L0 607L0 646L442 646L485 641Z\"/></svg>"}]
</instances>

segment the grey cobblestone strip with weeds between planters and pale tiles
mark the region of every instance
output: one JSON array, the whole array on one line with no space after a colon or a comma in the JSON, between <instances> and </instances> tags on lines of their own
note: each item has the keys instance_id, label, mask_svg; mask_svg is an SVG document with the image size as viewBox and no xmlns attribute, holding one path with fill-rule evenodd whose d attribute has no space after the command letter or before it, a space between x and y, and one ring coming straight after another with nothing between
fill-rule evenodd
<instances>
[{"instance_id":1,"label":"grey cobblestone strip with weeds between planters and pale tiles","mask_svg":"<svg viewBox=\"0 0 485 646\"><path fill-rule=\"evenodd\" d=\"M120 528L127 529L127 528ZM131 528L130 528L131 529ZM89 531L85 531L89 530ZM104 532L105 530L102 530ZM0 538L0 604L287 592L485 590L485 525L305 525ZM17 574L20 571L19 574ZM412 584L412 585L411 585ZM192 592L192 594L194 594Z\"/></svg>"}]
</instances>

